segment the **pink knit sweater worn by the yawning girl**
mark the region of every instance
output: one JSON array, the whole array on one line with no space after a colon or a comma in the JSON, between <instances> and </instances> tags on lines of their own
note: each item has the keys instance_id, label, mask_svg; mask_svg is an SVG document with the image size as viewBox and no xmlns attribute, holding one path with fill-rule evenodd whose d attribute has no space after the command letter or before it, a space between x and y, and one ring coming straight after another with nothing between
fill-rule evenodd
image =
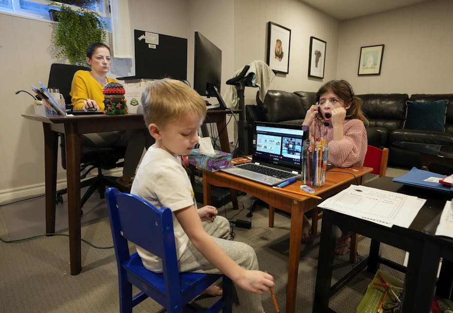
<instances>
[{"instance_id":1,"label":"pink knit sweater worn by the yawning girl","mask_svg":"<svg viewBox=\"0 0 453 313\"><path fill-rule=\"evenodd\" d=\"M327 140L327 160L334 166L345 168L351 165L363 165L368 140L362 121L345 120L343 122L344 138L341 140L332 140L334 137L332 125L324 126L316 119L310 126L310 134L314 138L324 137Z\"/></svg>"}]
</instances>

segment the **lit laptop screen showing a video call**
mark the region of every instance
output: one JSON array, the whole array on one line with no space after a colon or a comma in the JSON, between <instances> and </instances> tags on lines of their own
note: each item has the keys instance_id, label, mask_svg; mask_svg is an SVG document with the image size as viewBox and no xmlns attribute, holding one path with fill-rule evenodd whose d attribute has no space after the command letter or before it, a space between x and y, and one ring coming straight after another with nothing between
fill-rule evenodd
<instances>
[{"instance_id":1,"label":"lit laptop screen showing a video call","mask_svg":"<svg viewBox=\"0 0 453 313\"><path fill-rule=\"evenodd\" d=\"M308 133L301 125L255 122L253 162L265 162L301 171L302 142Z\"/></svg>"}]
</instances>

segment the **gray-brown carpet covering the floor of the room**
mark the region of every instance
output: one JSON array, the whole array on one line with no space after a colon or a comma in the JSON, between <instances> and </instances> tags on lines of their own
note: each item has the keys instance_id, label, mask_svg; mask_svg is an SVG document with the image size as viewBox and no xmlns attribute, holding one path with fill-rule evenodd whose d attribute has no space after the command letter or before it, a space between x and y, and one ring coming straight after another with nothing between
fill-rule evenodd
<instances>
[{"instance_id":1,"label":"gray-brown carpet covering the floor of the room","mask_svg":"<svg viewBox=\"0 0 453 313\"><path fill-rule=\"evenodd\" d=\"M407 171L391 171L388 176L398 176ZM373 177L370 176L369 179ZM249 196L239 198L241 209L235 211L230 205L219 209L227 218L247 220L246 213L251 205ZM57 206L57 229L67 234L67 212L65 205ZM236 216L234 216L236 215ZM252 217L252 228L234 227L235 240L250 244L256 250L260 268L267 270L275 278L274 292L280 312L285 312L287 258L289 246L289 218L276 214L275 227L267 227L268 210L258 206ZM45 231L43 198L28 200L0 207L0 237L5 240L26 238ZM234 217L233 217L234 216ZM64 221L66 219L66 222ZM59 224L60 223L60 224ZM66 224L65 224L66 223ZM322 223L322 220L321 220ZM82 217L82 239L98 246L82 243L82 272L77 276L69 274L68 237L39 237L19 243L0 243L1 287L0 311L15 312L117 312L118 283L116 262L112 248L109 220L103 200L92 196L84 208ZM311 244L302 244L299 265L296 312L311 312L315 289L316 268L319 252L319 235ZM359 239L359 254L366 257L370 240ZM131 251L134 250L131 245ZM404 252L384 246L384 256L402 264ZM335 261L333 282L353 268L348 256ZM397 278L398 273L385 266L381 269ZM373 275L361 272L340 293L331 298L330 307L339 313L356 312L361 297ZM271 296L262 296L266 312L275 312ZM212 299L197 300L205 306ZM161 306L147 299L134 312L163 312ZM233 312L241 312L235 306Z\"/></svg>"}]
</instances>

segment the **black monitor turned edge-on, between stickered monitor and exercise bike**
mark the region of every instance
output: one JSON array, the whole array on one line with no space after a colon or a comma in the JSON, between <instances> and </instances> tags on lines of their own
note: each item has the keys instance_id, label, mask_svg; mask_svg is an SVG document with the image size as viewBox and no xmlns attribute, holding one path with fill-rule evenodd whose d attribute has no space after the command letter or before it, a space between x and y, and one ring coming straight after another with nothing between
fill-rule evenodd
<instances>
[{"instance_id":1,"label":"black monitor turned edge-on, between stickered monitor and exercise bike","mask_svg":"<svg viewBox=\"0 0 453 313\"><path fill-rule=\"evenodd\" d=\"M193 89L202 96L216 97L220 109L226 110L227 106L220 95L222 50L195 31L194 54Z\"/></svg>"}]
</instances>

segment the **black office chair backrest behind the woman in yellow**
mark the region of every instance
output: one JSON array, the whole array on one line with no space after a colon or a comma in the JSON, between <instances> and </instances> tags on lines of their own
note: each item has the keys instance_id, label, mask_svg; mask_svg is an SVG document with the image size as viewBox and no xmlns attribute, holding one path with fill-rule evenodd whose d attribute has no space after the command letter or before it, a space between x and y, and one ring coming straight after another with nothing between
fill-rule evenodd
<instances>
[{"instance_id":1,"label":"black office chair backrest behind the woman in yellow","mask_svg":"<svg viewBox=\"0 0 453 313\"><path fill-rule=\"evenodd\" d=\"M85 66L53 63L50 67L49 82L47 87L58 88L66 104L71 104L71 83L77 70L90 70Z\"/></svg>"}]
</instances>

